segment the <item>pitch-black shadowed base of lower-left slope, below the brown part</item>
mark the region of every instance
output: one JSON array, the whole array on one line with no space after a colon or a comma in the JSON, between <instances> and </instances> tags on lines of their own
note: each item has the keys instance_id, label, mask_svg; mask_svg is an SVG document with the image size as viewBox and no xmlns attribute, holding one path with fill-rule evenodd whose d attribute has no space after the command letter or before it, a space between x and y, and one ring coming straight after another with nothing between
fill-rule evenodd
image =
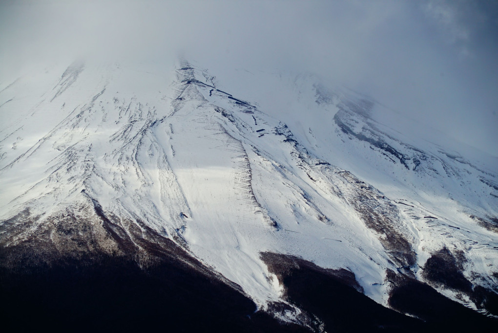
<instances>
[{"instance_id":1,"label":"pitch-black shadowed base of lower-left slope, below the brown part","mask_svg":"<svg viewBox=\"0 0 498 333\"><path fill-rule=\"evenodd\" d=\"M254 303L175 260L148 269L99 256L83 266L61 258L22 273L1 269L7 332L308 332L254 313Z\"/></svg>"}]
</instances>

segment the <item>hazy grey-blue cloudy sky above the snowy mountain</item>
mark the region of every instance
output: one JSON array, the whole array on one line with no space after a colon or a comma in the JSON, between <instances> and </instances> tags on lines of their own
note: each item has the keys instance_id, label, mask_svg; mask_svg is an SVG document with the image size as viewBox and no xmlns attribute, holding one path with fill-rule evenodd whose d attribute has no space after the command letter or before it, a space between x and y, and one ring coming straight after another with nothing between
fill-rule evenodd
<instances>
[{"instance_id":1,"label":"hazy grey-blue cloudy sky above the snowy mountain","mask_svg":"<svg viewBox=\"0 0 498 333\"><path fill-rule=\"evenodd\" d=\"M58 59L179 54L319 73L498 156L495 0L0 2L0 83Z\"/></svg>"}]
</instances>

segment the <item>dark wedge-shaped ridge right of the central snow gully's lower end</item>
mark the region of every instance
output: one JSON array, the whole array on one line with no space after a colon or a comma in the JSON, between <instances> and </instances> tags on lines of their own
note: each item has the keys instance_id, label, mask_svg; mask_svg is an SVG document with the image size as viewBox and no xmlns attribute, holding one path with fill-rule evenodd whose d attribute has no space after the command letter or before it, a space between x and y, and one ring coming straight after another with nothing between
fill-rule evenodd
<instances>
[{"instance_id":1,"label":"dark wedge-shaped ridge right of the central snow gully's lower end","mask_svg":"<svg viewBox=\"0 0 498 333\"><path fill-rule=\"evenodd\" d=\"M422 321L382 307L365 296L355 275L324 269L303 259L262 253L268 270L285 288L285 298L306 311L308 325L325 332L422 332Z\"/></svg>"}]
</instances>

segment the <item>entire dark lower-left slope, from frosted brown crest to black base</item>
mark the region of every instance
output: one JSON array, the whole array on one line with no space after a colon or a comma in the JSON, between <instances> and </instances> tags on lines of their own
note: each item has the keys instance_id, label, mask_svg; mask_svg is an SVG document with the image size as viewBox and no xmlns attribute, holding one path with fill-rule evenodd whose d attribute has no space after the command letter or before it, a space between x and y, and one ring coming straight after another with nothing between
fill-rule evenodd
<instances>
[{"instance_id":1,"label":"entire dark lower-left slope, from frosted brown crest to black base","mask_svg":"<svg viewBox=\"0 0 498 333\"><path fill-rule=\"evenodd\" d=\"M67 208L19 242L2 238L6 332L309 332L256 312L239 286L143 222L92 208ZM3 231L22 238L17 228L33 226L28 217L18 214Z\"/></svg>"}]
</instances>

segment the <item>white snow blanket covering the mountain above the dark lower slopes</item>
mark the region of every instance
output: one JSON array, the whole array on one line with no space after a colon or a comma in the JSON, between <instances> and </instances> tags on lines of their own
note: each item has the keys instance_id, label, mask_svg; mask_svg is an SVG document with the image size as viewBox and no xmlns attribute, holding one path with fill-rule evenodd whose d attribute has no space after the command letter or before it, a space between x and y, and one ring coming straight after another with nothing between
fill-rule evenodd
<instances>
[{"instance_id":1,"label":"white snow blanket covering the mountain above the dark lower slopes","mask_svg":"<svg viewBox=\"0 0 498 333\"><path fill-rule=\"evenodd\" d=\"M395 113L313 76L251 73L274 92L253 101L220 88L216 73L175 66L74 63L1 82L0 219L29 207L43 223L88 195L170 237L261 307L282 293L264 251L346 268L385 305L385 270L402 265L366 226L378 211L410 243L418 278L446 246L464 251L467 279L496 288L497 233L471 217L498 215L496 159L469 161L396 129ZM382 117L388 126L373 120Z\"/></svg>"}]
</instances>

